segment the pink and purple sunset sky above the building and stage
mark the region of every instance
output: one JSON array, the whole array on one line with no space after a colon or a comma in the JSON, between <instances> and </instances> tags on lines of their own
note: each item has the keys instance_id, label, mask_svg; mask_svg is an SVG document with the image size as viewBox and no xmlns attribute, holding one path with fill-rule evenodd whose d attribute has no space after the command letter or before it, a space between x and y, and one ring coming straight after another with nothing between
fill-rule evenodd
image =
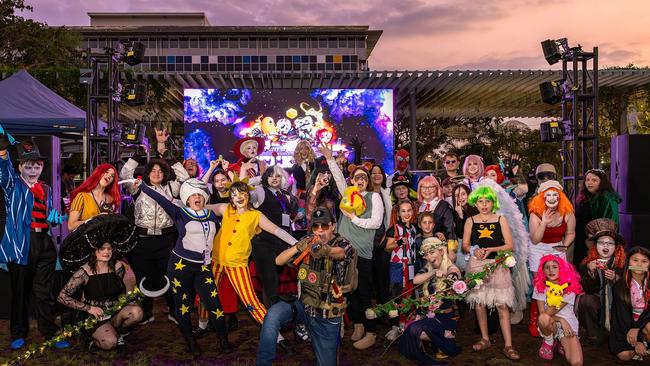
<instances>
[{"instance_id":1,"label":"pink and purple sunset sky above the building and stage","mask_svg":"<svg viewBox=\"0 0 650 366\"><path fill-rule=\"evenodd\" d=\"M212 25L369 25L375 70L548 69L540 41L598 46L600 67L650 65L644 0L26 0L29 18L88 25L87 12L205 12Z\"/></svg>"}]
</instances>

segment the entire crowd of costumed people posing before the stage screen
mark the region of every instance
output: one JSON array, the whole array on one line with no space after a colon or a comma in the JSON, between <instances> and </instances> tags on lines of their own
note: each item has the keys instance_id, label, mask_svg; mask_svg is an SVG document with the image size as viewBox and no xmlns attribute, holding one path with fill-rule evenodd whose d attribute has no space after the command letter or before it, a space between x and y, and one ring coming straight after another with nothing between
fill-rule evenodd
<instances>
[{"instance_id":1,"label":"entire crowd of costumed people posing before the stage screen","mask_svg":"<svg viewBox=\"0 0 650 366\"><path fill-rule=\"evenodd\" d=\"M47 158L32 141L0 135L12 349L28 343L28 314L45 338L93 318L80 344L128 345L130 332L154 321L162 297L163 314L195 357L197 338L211 333L219 352L232 352L228 334L248 312L261 327L258 365L301 341L318 365L335 365L346 338L358 350L375 345L378 321L390 327L384 344L396 342L404 357L443 363L461 352L458 321L473 312L474 352L490 348L500 329L503 354L519 360L511 326L523 320L544 360L581 365L583 347L605 345L622 361L650 355L648 243L626 246L620 198L602 170L585 174L574 207L555 167L540 164L524 178L518 156L485 166L469 155L461 165L449 152L442 174L416 176L412 157L398 150L387 175L301 141L286 169L259 159L264 140L246 137L232 147L239 160L219 158L201 171L193 159L170 157L166 131L156 138L149 161L99 165L79 185L64 172L69 201L58 212L39 181ZM56 225L70 231L60 248L49 231ZM497 266L506 252L516 262ZM469 290L437 297L428 312L393 309L381 318L372 310L436 298L467 278ZM107 313L136 287L141 301ZM294 342L282 335L291 328Z\"/></svg>"}]
</instances>

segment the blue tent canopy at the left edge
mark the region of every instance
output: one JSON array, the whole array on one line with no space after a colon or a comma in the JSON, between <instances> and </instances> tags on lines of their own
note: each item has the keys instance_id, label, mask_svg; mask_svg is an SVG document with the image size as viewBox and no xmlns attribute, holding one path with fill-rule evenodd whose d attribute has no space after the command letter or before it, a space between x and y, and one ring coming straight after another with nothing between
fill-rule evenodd
<instances>
[{"instance_id":1,"label":"blue tent canopy at the left edge","mask_svg":"<svg viewBox=\"0 0 650 366\"><path fill-rule=\"evenodd\" d=\"M27 71L0 81L0 125L11 134L58 135L82 132L86 112L59 96Z\"/></svg>"}]
</instances>

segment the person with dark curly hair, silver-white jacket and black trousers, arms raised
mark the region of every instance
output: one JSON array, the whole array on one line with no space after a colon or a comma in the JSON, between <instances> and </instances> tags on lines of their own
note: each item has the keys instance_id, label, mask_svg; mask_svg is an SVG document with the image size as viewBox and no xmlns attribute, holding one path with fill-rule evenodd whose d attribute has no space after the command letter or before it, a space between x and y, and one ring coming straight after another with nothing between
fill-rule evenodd
<instances>
[{"instance_id":1,"label":"person with dark curly hair, silver-white jacket and black trousers, arms raised","mask_svg":"<svg viewBox=\"0 0 650 366\"><path fill-rule=\"evenodd\" d=\"M133 174L138 167L138 162L129 159L120 170L120 179L133 179ZM172 171L176 179L171 180ZM189 174L181 163L173 166L162 159L151 159L144 167L143 182L149 188L173 201L178 197L181 184L189 179ZM178 239L178 232L174 220L165 210L151 197L139 193L139 190L132 183L125 184L126 189L134 197L134 221L138 235L138 245L131 251L129 263L133 267L136 280L141 288L159 290L165 287L165 275L167 274L167 263L172 248ZM146 281L145 281L146 279ZM176 322L174 309L174 297L171 291L163 294L167 307L168 317ZM148 323L154 320L153 298L146 297L142 301L144 309L144 321Z\"/></svg>"}]
</instances>

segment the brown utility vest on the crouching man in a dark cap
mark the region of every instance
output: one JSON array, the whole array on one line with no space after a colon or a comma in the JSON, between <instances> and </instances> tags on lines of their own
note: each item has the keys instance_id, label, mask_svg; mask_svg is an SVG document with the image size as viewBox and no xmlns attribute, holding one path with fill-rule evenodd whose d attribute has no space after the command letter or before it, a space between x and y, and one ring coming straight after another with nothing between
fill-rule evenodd
<instances>
[{"instance_id":1,"label":"brown utility vest on the crouching man in a dark cap","mask_svg":"<svg viewBox=\"0 0 650 366\"><path fill-rule=\"evenodd\" d=\"M326 271L314 271L302 264L298 270L300 300L312 308L323 310L324 318L339 318L345 313L345 286L338 286ZM349 286L348 286L349 288Z\"/></svg>"}]
</instances>

